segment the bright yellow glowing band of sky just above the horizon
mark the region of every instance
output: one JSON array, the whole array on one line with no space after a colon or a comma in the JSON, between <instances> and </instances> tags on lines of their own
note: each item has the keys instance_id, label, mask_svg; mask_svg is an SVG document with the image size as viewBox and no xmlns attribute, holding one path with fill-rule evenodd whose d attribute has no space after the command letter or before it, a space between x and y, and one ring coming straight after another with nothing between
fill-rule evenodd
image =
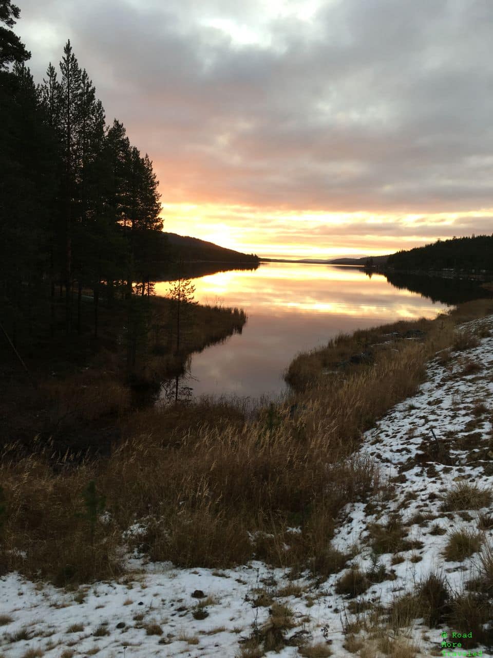
<instances>
[{"instance_id":1,"label":"bright yellow glowing band of sky just above the horizon","mask_svg":"<svg viewBox=\"0 0 493 658\"><path fill-rule=\"evenodd\" d=\"M263 209L214 203L163 203L164 231L193 236L264 258L378 256L446 240L455 222L488 218L493 209L408 215ZM433 230L431 230L433 229ZM472 231L471 231L472 232Z\"/></svg>"}]
</instances>

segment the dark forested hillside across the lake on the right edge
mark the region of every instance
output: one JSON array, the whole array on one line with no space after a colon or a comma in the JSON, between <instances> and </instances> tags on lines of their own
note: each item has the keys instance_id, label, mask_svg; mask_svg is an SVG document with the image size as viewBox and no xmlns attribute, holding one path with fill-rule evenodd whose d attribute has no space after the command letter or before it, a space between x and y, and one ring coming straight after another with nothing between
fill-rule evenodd
<instances>
[{"instance_id":1,"label":"dark forested hillside across the lake on the right edge","mask_svg":"<svg viewBox=\"0 0 493 658\"><path fill-rule=\"evenodd\" d=\"M493 235L438 240L425 247L398 251L388 257L394 270L458 270L478 274L493 271Z\"/></svg>"}]
</instances>

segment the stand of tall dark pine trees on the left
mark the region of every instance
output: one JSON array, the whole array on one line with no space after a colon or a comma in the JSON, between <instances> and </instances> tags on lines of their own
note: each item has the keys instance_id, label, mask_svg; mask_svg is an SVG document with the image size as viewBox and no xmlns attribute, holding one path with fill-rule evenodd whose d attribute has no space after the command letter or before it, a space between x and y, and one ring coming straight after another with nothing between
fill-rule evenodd
<instances>
[{"instance_id":1,"label":"stand of tall dark pine trees on the left","mask_svg":"<svg viewBox=\"0 0 493 658\"><path fill-rule=\"evenodd\" d=\"M146 259L162 242L160 195L153 163L131 145L124 125L105 122L89 74L67 41L59 70L49 64L35 85L30 53L11 30L17 7L2 3L0 19L0 286L12 340L43 323L49 331L81 331L83 293L97 307L106 297L145 288ZM55 311L62 297L63 318Z\"/></svg>"}]
</instances>

